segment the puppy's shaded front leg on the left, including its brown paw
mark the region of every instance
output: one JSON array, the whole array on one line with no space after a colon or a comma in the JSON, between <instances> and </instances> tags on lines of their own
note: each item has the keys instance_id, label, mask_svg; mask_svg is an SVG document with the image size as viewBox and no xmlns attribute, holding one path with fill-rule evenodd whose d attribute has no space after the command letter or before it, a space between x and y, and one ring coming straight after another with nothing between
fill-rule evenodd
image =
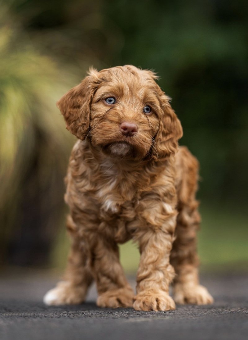
<instances>
[{"instance_id":1,"label":"puppy's shaded front leg on the left, including its brown paw","mask_svg":"<svg viewBox=\"0 0 248 340\"><path fill-rule=\"evenodd\" d=\"M125 277L119 262L118 245L96 236L93 249L93 271L95 273L99 307L132 307L134 292Z\"/></svg>"}]
</instances>

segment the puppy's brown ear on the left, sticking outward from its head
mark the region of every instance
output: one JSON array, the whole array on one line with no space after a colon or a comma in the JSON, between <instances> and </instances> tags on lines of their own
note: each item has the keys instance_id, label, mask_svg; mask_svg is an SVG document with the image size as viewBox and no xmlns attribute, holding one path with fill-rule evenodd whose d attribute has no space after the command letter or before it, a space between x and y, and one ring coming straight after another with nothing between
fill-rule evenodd
<instances>
[{"instance_id":1,"label":"puppy's brown ear on the left, sticking outward from its head","mask_svg":"<svg viewBox=\"0 0 248 340\"><path fill-rule=\"evenodd\" d=\"M90 69L89 75L57 102L64 116L66 129L81 140L85 139L90 127L90 106L98 85L97 73Z\"/></svg>"}]
</instances>

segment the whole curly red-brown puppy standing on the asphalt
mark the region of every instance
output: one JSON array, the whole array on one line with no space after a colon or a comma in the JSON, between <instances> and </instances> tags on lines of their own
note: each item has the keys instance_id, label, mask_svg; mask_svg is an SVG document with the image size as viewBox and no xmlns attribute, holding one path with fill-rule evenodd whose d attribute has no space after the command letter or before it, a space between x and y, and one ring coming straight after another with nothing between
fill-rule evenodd
<instances>
[{"instance_id":1,"label":"whole curly red-brown puppy standing on the asphalt","mask_svg":"<svg viewBox=\"0 0 248 340\"><path fill-rule=\"evenodd\" d=\"M66 176L68 268L47 305L82 303L93 279L100 307L213 302L198 280L198 162L178 148L182 126L156 79L131 65L90 69L57 103L78 141ZM140 251L136 295L119 262L118 243L130 239Z\"/></svg>"}]
</instances>

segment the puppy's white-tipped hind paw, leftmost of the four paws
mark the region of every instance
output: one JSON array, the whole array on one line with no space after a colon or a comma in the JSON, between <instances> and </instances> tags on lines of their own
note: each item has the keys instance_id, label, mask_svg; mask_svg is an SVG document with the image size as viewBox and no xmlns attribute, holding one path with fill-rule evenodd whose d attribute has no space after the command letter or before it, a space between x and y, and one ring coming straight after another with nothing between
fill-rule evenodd
<instances>
[{"instance_id":1,"label":"puppy's white-tipped hind paw, leftmost of the four paws","mask_svg":"<svg viewBox=\"0 0 248 340\"><path fill-rule=\"evenodd\" d=\"M46 305L77 305L84 301L86 291L84 287L73 286L69 282L61 281L49 290L43 297Z\"/></svg>"}]
</instances>

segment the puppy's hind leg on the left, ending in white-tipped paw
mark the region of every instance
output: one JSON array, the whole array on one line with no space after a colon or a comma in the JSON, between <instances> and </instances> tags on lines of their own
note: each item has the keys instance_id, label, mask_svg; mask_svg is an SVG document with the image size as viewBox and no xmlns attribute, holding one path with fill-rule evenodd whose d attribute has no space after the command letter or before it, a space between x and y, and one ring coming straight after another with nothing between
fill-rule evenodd
<instances>
[{"instance_id":1,"label":"puppy's hind leg on the left, ending in white-tipped paw","mask_svg":"<svg viewBox=\"0 0 248 340\"><path fill-rule=\"evenodd\" d=\"M85 300L89 286L93 281L89 253L75 231L71 216L67 227L72 237L72 245L64 281L49 290L43 301L46 305L79 304Z\"/></svg>"}]
</instances>

